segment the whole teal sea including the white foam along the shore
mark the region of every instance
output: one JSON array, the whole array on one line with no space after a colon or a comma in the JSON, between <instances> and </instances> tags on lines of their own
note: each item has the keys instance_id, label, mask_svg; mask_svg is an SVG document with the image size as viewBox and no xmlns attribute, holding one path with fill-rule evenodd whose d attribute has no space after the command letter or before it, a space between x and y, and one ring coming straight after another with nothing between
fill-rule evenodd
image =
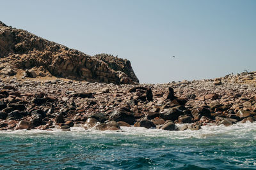
<instances>
[{"instance_id":1,"label":"whole teal sea including the white foam along the shore","mask_svg":"<svg viewBox=\"0 0 256 170\"><path fill-rule=\"evenodd\" d=\"M256 123L199 131L1 131L0 169L256 169Z\"/></svg>"}]
</instances>

